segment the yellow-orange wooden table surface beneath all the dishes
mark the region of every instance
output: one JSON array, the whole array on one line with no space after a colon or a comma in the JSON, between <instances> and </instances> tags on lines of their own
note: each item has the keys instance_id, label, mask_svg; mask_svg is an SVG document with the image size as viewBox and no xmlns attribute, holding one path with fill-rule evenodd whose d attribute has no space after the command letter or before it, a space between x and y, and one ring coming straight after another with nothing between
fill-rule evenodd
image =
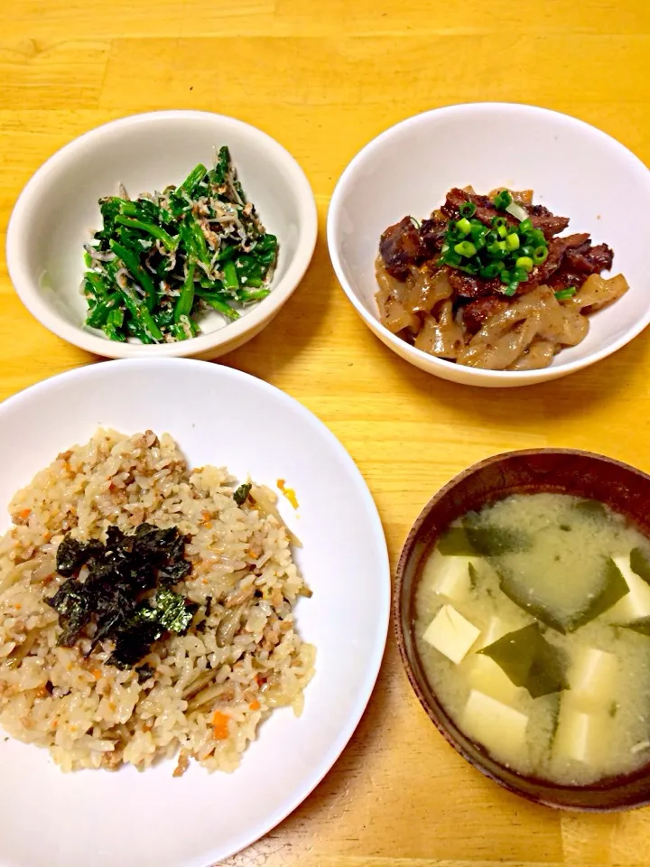
<instances>
[{"instance_id":1,"label":"yellow-orange wooden table surface beneath all the dishes","mask_svg":"<svg viewBox=\"0 0 650 867\"><path fill-rule=\"evenodd\" d=\"M349 159L427 108L480 99L550 107L650 163L648 0L2 0L0 23L3 234L46 157L130 113L240 117L302 164L320 214L311 268L272 325L222 360L282 388L336 433L376 499L393 564L432 493L489 454L570 446L650 471L650 331L548 385L452 385L372 336L325 243L328 201ZM97 360L32 320L0 266L0 398ZM649 810L560 815L470 769L432 729L391 633L367 713L334 769L225 863L631 865L650 863L648 844Z\"/></svg>"}]
</instances>

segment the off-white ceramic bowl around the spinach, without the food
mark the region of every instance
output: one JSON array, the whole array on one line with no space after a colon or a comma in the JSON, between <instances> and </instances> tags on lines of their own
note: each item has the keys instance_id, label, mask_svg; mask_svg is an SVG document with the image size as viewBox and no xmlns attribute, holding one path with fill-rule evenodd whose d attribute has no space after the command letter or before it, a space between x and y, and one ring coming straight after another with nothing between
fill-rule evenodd
<instances>
[{"instance_id":1,"label":"off-white ceramic bowl around the spinach, without the food","mask_svg":"<svg viewBox=\"0 0 650 867\"><path fill-rule=\"evenodd\" d=\"M197 163L210 165L228 144L249 200L279 240L272 289L237 322L217 312L193 340L143 346L108 340L84 328L79 292L83 245L101 227L98 199L180 183ZM217 358L255 337L300 283L316 244L317 217L301 167L269 135L233 117L202 111L157 111L99 126L51 156L27 183L9 222L6 258L27 309L63 340L109 358Z\"/></svg>"}]
</instances>

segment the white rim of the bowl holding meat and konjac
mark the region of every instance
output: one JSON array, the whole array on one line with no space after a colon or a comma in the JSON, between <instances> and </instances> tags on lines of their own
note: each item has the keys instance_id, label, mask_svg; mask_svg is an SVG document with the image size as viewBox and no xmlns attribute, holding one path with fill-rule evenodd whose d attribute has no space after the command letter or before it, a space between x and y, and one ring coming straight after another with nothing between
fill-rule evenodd
<instances>
[{"instance_id":1,"label":"white rim of the bowl holding meat and konjac","mask_svg":"<svg viewBox=\"0 0 650 867\"><path fill-rule=\"evenodd\" d=\"M587 121L580 120L580 118L572 117L571 115L565 115L561 111L554 111L552 108L532 106L521 102L493 102L486 100L484 102L454 103L449 106L430 108L426 111L418 112L418 114L412 115L411 117L405 117L404 120L400 120L396 124L393 124L393 126L389 126L382 133L379 133L379 135L376 135L375 138L365 144L344 169L343 173L339 177L336 187L334 188L330 200L330 208L328 210L327 218L327 240L334 272L337 275L337 279L339 280L339 284L343 288L343 291L348 296L348 300L352 303L359 316L364 322L366 322L371 331L381 333L382 340L384 340L391 349L395 349L395 351L405 351L408 355L413 355L414 359L420 359L422 362L426 362L428 366L439 368L441 371L447 371L450 370L450 368L457 368L458 365L454 361L437 359L435 356L429 355L428 352L417 350L414 346L411 346L411 344L405 343L404 340L400 340L400 338L396 337L392 331L389 331L378 318L367 312L364 305L359 302L357 295L348 284L348 280L343 272L343 267L341 266L339 249L336 244L336 235L339 229L340 200L343 198L346 187L350 182L353 172L357 170L357 166L360 163L363 163L368 154L372 154L373 151L384 144L386 139L395 135L398 129L402 130L404 127L417 126L422 121L422 118L427 116L480 114L480 112L495 108L506 109L506 111L511 111L513 114L529 114L538 117L554 117L555 119L560 118L562 123L568 126L575 126L589 130L591 136L599 138L602 142L606 143L608 147L616 150L621 159L625 160L635 168L641 168L647 171L645 163L643 163L636 154L633 154L625 144L621 144L612 135L603 132L603 130L599 129L598 126L592 126L591 124L588 124ZM552 368L541 368L540 370L486 370L483 368L465 368L465 370L469 373L471 378L476 379L477 385L487 385L489 380L503 380L504 376L507 376L508 379L512 378L513 384L517 378L525 379L526 385L547 381L551 378L549 376L551 370L554 376L563 376L564 374L569 374L576 370L590 367L590 365L595 362L607 358L608 355L612 355L631 340L634 340L641 331L644 331L648 324L650 324L650 304L647 307L645 316L636 322L636 325L633 328L626 331L625 334L617 340L614 340L609 346L591 352L583 359L561 362L560 364L554 365ZM400 355L401 353L397 351L397 354ZM483 382L481 382L481 380L483 380Z\"/></svg>"}]
</instances>

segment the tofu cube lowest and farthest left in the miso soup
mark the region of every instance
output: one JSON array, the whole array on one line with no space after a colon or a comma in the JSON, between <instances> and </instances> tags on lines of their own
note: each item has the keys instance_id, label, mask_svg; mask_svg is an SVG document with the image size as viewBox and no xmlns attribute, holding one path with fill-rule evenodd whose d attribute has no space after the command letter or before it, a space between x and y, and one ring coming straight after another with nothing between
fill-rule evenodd
<instances>
[{"instance_id":1,"label":"tofu cube lowest and farthest left in the miso soup","mask_svg":"<svg viewBox=\"0 0 650 867\"><path fill-rule=\"evenodd\" d=\"M528 716L491 695L472 689L462 714L462 730L496 754L515 753L525 745Z\"/></svg>"}]
</instances>

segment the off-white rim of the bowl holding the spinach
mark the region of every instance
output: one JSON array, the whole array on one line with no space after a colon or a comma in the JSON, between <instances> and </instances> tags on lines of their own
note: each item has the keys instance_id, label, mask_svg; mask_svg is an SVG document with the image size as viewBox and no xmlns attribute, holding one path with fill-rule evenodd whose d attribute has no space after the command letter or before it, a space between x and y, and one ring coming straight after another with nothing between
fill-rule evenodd
<instances>
[{"instance_id":1,"label":"off-white rim of the bowl holding the spinach","mask_svg":"<svg viewBox=\"0 0 650 867\"><path fill-rule=\"evenodd\" d=\"M135 126L145 126L151 121L158 119L181 123L192 118L216 120L224 128L229 127L245 132L250 138L264 145L267 151L272 152L274 159L278 163L283 163L286 172L291 178L292 188L296 193L299 207L299 244L286 273L274 286L271 294L262 303L256 304L255 307L246 313L246 316L242 316L237 322L228 322L227 326L218 331L209 331L207 334L200 334L197 337L190 338L190 340L181 340L175 343L157 343L146 346L139 343L119 343L115 340L99 337L92 331L86 331L81 327L72 325L70 322L66 322L56 312L51 310L51 307L42 302L38 290L32 285L32 280L25 273L29 251L23 246L23 226L35 207L42 182L51 172L59 168L61 164L74 161L77 154L88 148L92 148L94 144L107 135L118 135L121 130ZM142 358L143 356L174 358L209 352L209 350L234 342L238 338L243 338L247 332L255 331L256 327L263 327L274 313L280 310L283 303L288 300L301 282L303 275L310 265L317 239L318 212L310 182L307 180L306 174L295 157L282 144L256 126L247 124L237 117L220 115L211 111L178 108L141 112L135 115L118 117L115 120L95 126L93 129L88 130L88 132L78 135L68 142L68 144L60 147L54 154L51 154L36 172L32 174L32 177L25 184L23 191L21 191L14 204L14 210L7 227L5 256L9 276L21 301L27 310L32 313L32 316L49 329L49 331L56 334L57 337L83 350L105 358ZM110 350L110 352L107 350Z\"/></svg>"}]
</instances>

